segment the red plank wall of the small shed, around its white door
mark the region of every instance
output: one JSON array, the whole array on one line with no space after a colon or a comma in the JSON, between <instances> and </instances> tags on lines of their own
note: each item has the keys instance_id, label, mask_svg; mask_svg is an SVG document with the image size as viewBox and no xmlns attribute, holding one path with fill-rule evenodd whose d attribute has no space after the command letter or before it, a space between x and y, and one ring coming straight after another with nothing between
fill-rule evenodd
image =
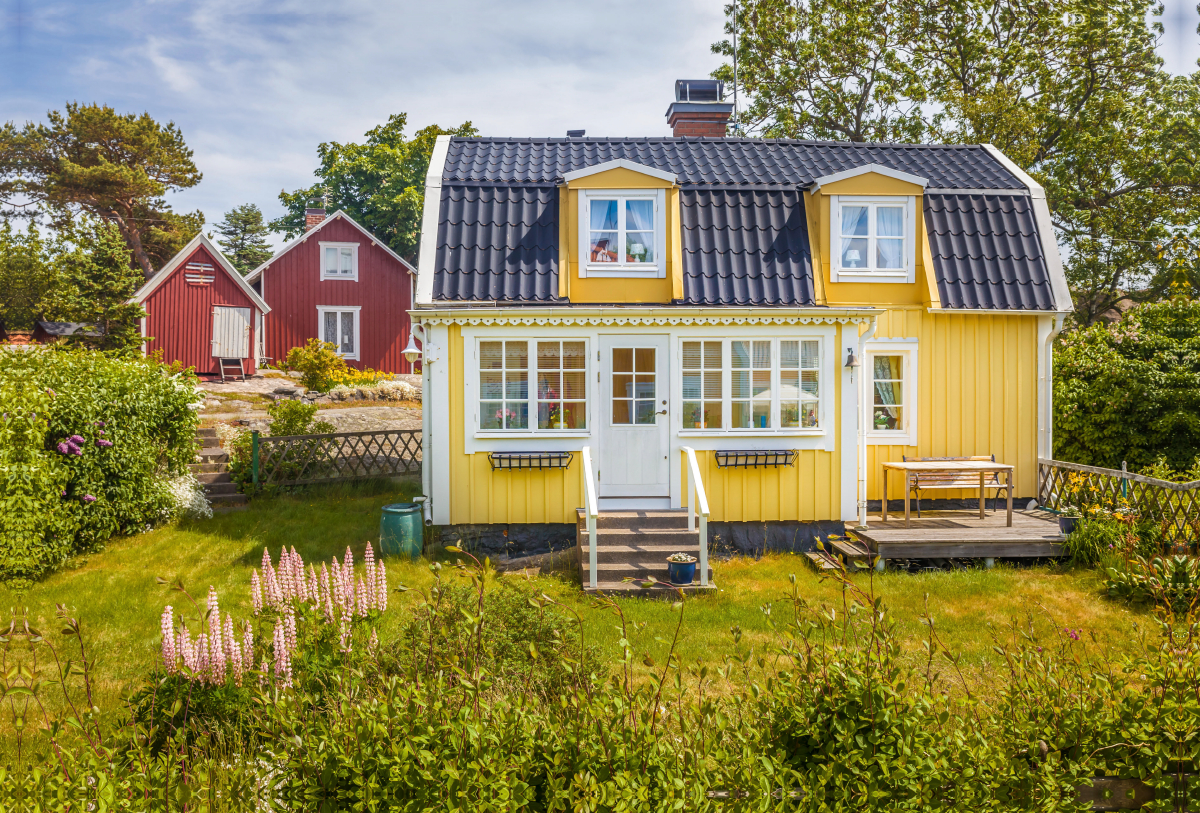
<instances>
[{"instance_id":1,"label":"red plank wall of the small shed, around its white door","mask_svg":"<svg viewBox=\"0 0 1200 813\"><path fill-rule=\"evenodd\" d=\"M212 282L205 285L188 283L184 277L188 263L211 265ZM145 335L150 337L146 353L162 350L162 360L168 363L179 361L185 367L194 367L200 374L220 373L217 360L212 357L212 308L218 305L251 311L251 357L242 361L248 375L254 371L258 308L203 246L180 263L142 303L146 309Z\"/></svg>"}]
</instances>

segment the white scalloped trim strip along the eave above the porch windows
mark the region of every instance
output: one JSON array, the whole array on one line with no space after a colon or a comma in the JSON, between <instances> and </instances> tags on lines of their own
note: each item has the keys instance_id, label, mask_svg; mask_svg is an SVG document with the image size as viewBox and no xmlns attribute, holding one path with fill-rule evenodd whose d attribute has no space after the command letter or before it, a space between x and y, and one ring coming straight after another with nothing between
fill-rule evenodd
<instances>
[{"instance_id":1,"label":"white scalloped trim strip along the eave above the porch windows","mask_svg":"<svg viewBox=\"0 0 1200 813\"><path fill-rule=\"evenodd\" d=\"M523 311L523 312L522 312ZM682 312L680 312L682 311ZM732 311L732 313L727 313ZM782 312L781 312L782 311ZM548 309L530 313L528 308L511 311L487 311L479 313L479 309L439 309L439 311L413 311L415 321L425 325L535 325L535 326L568 326L568 325L594 325L602 327L631 326L691 326L691 325L860 325L866 324L883 311L877 308L860 308L853 311L828 311L826 308L748 308L737 309L727 307L716 308L671 308L671 309L647 309L644 312L630 312L628 309L607 308L598 311L594 308L569 312L564 309Z\"/></svg>"}]
</instances>

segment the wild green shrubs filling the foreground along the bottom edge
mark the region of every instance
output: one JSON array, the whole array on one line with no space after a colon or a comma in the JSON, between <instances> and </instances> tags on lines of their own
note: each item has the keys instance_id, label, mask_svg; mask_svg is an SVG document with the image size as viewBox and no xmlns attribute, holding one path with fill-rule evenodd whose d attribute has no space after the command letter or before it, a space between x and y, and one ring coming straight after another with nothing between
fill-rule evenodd
<instances>
[{"instance_id":1,"label":"wild green shrubs filling the foreground along the bottom edge","mask_svg":"<svg viewBox=\"0 0 1200 813\"><path fill-rule=\"evenodd\" d=\"M469 558L468 558L469 559ZM37 722L35 657L68 662L65 719L28 733L20 765L0 783L6 809L280 811L1082 811L1092 776L1144 779L1183 809L1176 784L1200 763L1200 642L1165 621L1128 661L1096 657L1078 631L1040 639L1033 624L996 634L1003 678L972 693L935 619L923 655L905 644L871 584L842 580L836 607L811 607L793 582L762 651L684 664L688 604L649 680L634 678L635 630L611 614L620 656L590 656L572 610L545 595L494 598L485 566L460 565L470 588L443 582L413 606L395 642L295 660L289 688L253 681L238 729L220 724L239 700L149 681L163 716L109 721L89 710L90 657L64 612L66 643L16 626L2 638L6 704ZM548 615L554 621L535 622ZM514 648L517 626L535 643ZM362 625L373 624L365 619ZM365 630L362 632L366 632ZM265 631L258 633L265 638ZM740 637L738 628L731 636ZM58 637L54 637L58 640ZM361 640L361 637L358 638ZM301 636L301 649L305 646ZM374 636L372 634L372 640ZM58 648L56 658L48 651ZM316 652L316 650L313 651ZM540 675L541 679L534 679ZM172 682L176 681L176 682ZM158 688L155 688L158 687ZM44 686L41 687L44 693ZM22 694L24 692L24 695ZM145 693L143 693L143 700ZM22 703L24 705L22 706ZM144 707L143 703L143 707ZM188 709L204 709L188 718ZM160 727L169 725L166 731ZM204 736L196 736L203 729Z\"/></svg>"}]
</instances>

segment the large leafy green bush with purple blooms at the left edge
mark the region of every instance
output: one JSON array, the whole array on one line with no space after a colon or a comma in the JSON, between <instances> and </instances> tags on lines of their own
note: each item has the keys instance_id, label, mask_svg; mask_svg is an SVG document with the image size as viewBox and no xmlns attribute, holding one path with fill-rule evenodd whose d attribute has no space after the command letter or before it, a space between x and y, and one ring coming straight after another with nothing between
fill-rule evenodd
<instances>
[{"instance_id":1,"label":"large leafy green bush with purple blooms at the left edge","mask_svg":"<svg viewBox=\"0 0 1200 813\"><path fill-rule=\"evenodd\" d=\"M194 405L194 378L154 360L0 349L0 578L174 516Z\"/></svg>"}]
</instances>

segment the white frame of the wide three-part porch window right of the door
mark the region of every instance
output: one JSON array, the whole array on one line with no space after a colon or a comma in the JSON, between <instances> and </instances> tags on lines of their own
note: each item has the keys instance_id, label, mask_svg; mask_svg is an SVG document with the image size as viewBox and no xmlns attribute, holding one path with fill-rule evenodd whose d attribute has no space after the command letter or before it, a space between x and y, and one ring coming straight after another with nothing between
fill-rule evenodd
<instances>
[{"instance_id":1,"label":"white frame of the wide three-part porch window right of the door","mask_svg":"<svg viewBox=\"0 0 1200 813\"><path fill-rule=\"evenodd\" d=\"M679 387L679 396L676 398L678 406L676 412L679 416L678 433L680 438L708 438L708 436L822 436L832 432L834 421L833 387L834 387L834 362L832 348L834 342L823 335L788 335L788 336L762 336L746 333L745 336L686 336L679 337L676 343L674 369L672 377L682 385L683 381L683 345L684 342L720 342L721 343L721 427L692 429L683 427L683 389ZM772 426L733 428L733 350L732 342L770 342L770 420ZM782 428L780 422L780 342L817 342L817 383L820 393L817 395L817 426L815 427L790 427Z\"/></svg>"}]
</instances>

